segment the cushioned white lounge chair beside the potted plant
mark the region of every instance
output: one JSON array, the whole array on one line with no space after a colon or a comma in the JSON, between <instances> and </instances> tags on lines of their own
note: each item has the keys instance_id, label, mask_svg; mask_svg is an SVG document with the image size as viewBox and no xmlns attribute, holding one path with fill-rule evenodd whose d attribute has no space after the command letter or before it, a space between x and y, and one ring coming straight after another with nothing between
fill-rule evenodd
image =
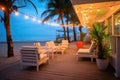
<instances>
[{"instance_id":1,"label":"cushioned white lounge chair beside the potted plant","mask_svg":"<svg viewBox=\"0 0 120 80\"><path fill-rule=\"evenodd\" d=\"M80 48L76 55L79 59L79 57L88 57L91 58L91 62L93 62L93 58L96 58L95 52L94 52L94 43L91 42L90 47L88 49Z\"/></svg>"}]
</instances>

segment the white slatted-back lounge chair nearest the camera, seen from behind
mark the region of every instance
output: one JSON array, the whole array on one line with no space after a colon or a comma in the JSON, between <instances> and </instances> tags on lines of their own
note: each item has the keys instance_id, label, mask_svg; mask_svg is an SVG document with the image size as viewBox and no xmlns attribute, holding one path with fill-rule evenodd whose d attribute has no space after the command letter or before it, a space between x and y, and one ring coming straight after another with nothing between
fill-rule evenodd
<instances>
[{"instance_id":1,"label":"white slatted-back lounge chair nearest the camera, seen from behind","mask_svg":"<svg viewBox=\"0 0 120 80\"><path fill-rule=\"evenodd\" d=\"M22 46L21 50L21 64L23 66L36 66L39 71L39 65L49 61L47 54L41 54L36 46Z\"/></svg>"}]
</instances>

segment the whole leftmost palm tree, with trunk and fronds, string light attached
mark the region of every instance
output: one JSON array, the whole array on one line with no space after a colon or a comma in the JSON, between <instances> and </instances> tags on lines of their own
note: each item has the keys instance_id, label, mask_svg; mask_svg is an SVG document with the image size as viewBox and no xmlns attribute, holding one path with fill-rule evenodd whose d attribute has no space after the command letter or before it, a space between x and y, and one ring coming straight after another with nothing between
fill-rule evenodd
<instances>
[{"instance_id":1,"label":"whole leftmost palm tree, with trunk and fronds, string light attached","mask_svg":"<svg viewBox=\"0 0 120 80\"><path fill-rule=\"evenodd\" d=\"M17 6L15 4L16 2L18 3L24 2L24 4L21 4L21 6ZM14 56L13 41L12 41L11 32L10 32L10 15L12 12L17 11L18 8L25 7L26 2L31 3L33 7L35 8L35 10L37 11L37 8L35 7L35 5L33 4L31 0L0 0L0 8L2 12L4 13L4 16L0 15L1 16L0 18L1 18L1 21L4 22L4 27L6 30L7 49L8 49L7 56L8 57Z\"/></svg>"}]
</instances>

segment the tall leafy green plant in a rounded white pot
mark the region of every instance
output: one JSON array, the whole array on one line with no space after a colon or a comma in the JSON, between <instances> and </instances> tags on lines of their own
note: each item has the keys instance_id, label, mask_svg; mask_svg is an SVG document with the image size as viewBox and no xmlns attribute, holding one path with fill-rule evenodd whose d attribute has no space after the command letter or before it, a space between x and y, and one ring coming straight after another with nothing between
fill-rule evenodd
<instances>
[{"instance_id":1,"label":"tall leafy green plant in a rounded white pot","mask_svg":"<svg viewBox=\"0 0 120 80\"><path fill-rule=\"evenodd\" d=\"M111 53L110 42L108 42L110 34L106 33L106 29L107 27L103 26L102 23L94 23L93 29L90 30L90 34L97 46L96 63L100 70L105 70L107 68Z\"/></svg>"}]
</instances>

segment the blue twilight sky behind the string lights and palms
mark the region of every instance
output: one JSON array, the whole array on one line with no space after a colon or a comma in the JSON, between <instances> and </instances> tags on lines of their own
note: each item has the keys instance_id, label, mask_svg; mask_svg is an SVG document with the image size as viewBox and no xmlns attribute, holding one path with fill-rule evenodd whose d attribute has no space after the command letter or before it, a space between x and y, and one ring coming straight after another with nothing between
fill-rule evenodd
<instances>
[{"instance_id":1,"label":"blue twilight sky behind the string lights and palms","mask_svg":"<svg viewBox=\"0 0 120 80\"><path fill-rule=\"evenodd\" d=\"M37 2L33 0L37 6L38 14L32 5L27 4L27 7L20 8L18 11L30 16L29 19L25 19L23 14L16 16L11 14L11 33L13 41L46 41L56 39L56 30L61 29L61 26L51 26L47 24L41 24L37 21L33 21L32 17L35 16L40 19L40 14L45 10L45 3ZM0 11L0 14L3 14ZM4 24L0 23L0 42L6 41Z\"/></svg>"}]
</instances>

